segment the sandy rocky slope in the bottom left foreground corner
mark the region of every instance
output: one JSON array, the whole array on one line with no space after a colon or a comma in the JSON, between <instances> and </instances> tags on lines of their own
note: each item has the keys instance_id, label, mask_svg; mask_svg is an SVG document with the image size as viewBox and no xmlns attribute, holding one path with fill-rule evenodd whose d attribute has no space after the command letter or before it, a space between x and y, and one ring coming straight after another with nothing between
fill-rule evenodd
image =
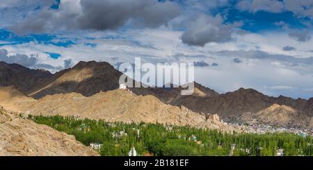
<instances>
[{"instance_id":1,"label":"sandy rocky slope in the bottom left foreground corner","mask_svg":"<svg viewBox=\"0 0 313 170\"><path fill-rule=\"evenodd\" d=\"M98 155L75 137L22 119L0 106L0 155Z\"/></svg>"}]
</instances>

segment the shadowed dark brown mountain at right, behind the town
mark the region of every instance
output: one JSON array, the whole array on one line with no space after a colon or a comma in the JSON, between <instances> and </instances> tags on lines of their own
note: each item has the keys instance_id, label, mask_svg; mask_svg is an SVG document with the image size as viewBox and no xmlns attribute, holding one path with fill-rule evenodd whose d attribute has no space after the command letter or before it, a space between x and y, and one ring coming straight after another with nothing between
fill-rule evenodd
<instances>
[{"instance_id":1,"label":"shadowed dark brown mountain at right, behind the town","mask_svg":"<svg viewBox=\"0 0 313 170\"><path fill-rule=\"evenodd\" d=\"M162 96L161 96L162 97ZM236 117L244 112L256 113L277 103L287 105L301 113L313 116L313 98L291 99L284 96L277 98L266 96L257 90L239 89L234 92L217 94L212 96L183 96L173 101L166 101L171 105L184 105L194 112L214 112L226 119Z\"/></svg>"}]
</instances>

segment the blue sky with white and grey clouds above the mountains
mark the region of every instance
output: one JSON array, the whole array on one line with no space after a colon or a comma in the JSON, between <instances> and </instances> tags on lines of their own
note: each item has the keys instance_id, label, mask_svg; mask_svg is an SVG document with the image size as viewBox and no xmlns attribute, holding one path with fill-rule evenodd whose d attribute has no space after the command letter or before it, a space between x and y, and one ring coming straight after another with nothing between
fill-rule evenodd
<instances>
[{"instance_id":1,"label":"blue sky with white and grey clouds above the mountains","mask_svg":"<svg viewBox=\"0 0 313 170\"><path fill-rule=\"evenodd\" d=\"M193 62L220 93L313 96L313 0L1 0L0 60Z\"/></svg>"}]
</instances>

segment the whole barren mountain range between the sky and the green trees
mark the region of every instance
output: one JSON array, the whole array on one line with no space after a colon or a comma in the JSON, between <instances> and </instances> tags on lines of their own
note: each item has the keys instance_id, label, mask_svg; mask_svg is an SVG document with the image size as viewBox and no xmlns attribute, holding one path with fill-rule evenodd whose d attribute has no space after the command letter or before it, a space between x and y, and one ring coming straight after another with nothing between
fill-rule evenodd
<instances>
[{"instance_id":1,"label":"whole barren mountain range between the sky and the green trees","mask_svg":"<svg viewBox=\"0 0 313 170\"><path fill-rule=\"evenodd\" d=\"M218 94L208 87L195 83L195 90L189 96L180 94L182 87L130 88L131 94L124 94L118 90L120 75L122 73L108 62L79 62L74 67L56 74L42 69L29 69L21 65L0 62L0 86L2 86L0 87L2 98L0 105L7 105L14 111L33 110L32 112L45 114L51 114L51 112L63 114L69 110L71 114L97 119L110 117L113 119L113 114L100 117L102 112L115 112L116 119L118 119L118 112L127 112L129 117L137 112L142 116L141 119L127 119L127 121L152 122L161 119L168 120L169 116L166 115L168 113L163 110L180 110L175 111L177 115L175 114L174 118L170 119L171 121L163 122L166 124L177 121L179 115L184 115L185 111L182 111L184 109L192 112L193 115L197 113L200 117L218 114L225 121L237 121L256 117L260 115L260 112L268 112L274 106L280 106L279 110L271 112L271 117L275 119L262 119L262 121L273 123L272 121L275 120L282 124L301 124L303 119L297 118L300 115L309 122L303 124L305 126L310 125L310 119L313 116L313 98L306 100L286 96L273 97L253 89L240 88L234 92ZM121 97L122 95L125 97ZM59 99L63 103L56 102L60 101ZM104 101L100 102L102 99ZM79 100L81 103L78 102ZM161 106L158 108L156 105ZM279 119L279 115L284 112L293 112L293 114L286 114L288 119L280 122L282 119ZM145 117L146 113L149 116ZM262 115L266 117L268 114ZM185 124L191 124L193 118L199 117L192 117ZM206 119L201 119L206 121ZM285 122L286 120L289 121ZM197 124L200 124L200 121Z\"/></svg>"}]
</instances>

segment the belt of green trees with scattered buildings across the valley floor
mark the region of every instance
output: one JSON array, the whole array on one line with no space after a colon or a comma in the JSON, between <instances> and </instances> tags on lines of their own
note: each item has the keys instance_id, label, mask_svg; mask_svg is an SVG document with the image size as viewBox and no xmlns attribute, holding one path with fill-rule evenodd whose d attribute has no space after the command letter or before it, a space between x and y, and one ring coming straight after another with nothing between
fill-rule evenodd
<instances>
[{"instance_id":1,"label":"belt of green trees with scattered buildings across the valley floor","mask_svg":"<svg viewBox=\"0 0 313 170\"><path fill-rule=\"evenodd\" d=\"M101 155L128 155L134 146L139 155L313 155L312 137L290 133L221 133L188 126L107 123L74 117L31 116L38 124L74 135L89 146L102 144Z\"/></svg>"}]
</instances>

